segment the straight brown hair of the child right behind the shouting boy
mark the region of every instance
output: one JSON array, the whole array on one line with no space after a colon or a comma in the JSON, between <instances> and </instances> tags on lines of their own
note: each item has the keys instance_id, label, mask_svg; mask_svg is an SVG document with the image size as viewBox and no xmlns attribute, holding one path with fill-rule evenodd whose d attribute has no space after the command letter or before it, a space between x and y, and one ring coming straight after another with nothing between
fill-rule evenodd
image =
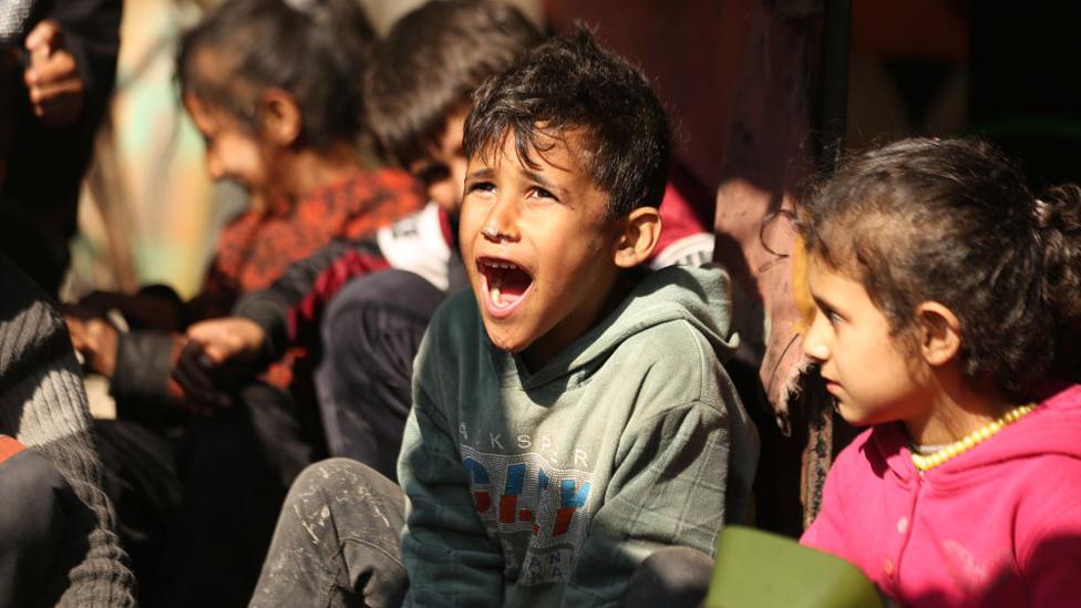
<instances>
[{"instance_id":1,"label":"straight brown hair of the child right behind the shouting boy","mask_svg":"<svg viewBox=\"0 0 1081 608\"><path fill-rule=\"evenodd\" d=\"M403 166L423 157L485 79L542 40L504 2L433 0L402 17L375 45L367 75L368 115L383 154Z\"/></svg>"}]
</instances>

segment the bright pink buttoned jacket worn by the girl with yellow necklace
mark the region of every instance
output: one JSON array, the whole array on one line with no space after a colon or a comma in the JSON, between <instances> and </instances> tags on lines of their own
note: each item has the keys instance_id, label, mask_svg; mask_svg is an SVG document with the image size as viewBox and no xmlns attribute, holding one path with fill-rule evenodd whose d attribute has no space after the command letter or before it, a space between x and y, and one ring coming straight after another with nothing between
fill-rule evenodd
<instances>
[{"instance_id":1,"label":"bright pink buttoned jacket worn by the girl with yellow necklace","mask_svg":"<svg viewBox=\"0 0 1081 608\"><path fill-rule=\"evenodd\" d=\"M1081 606L1081 385L923 474L899 423L869 429L801 543L905 606Z\"/></svg>"}]
</instances>

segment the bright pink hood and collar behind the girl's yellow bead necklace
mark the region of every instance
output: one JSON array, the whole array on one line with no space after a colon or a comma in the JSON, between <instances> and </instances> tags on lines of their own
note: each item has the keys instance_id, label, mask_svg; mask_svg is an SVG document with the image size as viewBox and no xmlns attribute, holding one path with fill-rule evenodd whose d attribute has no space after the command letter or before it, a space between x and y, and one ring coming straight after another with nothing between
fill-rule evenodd
<instances>
[{"instance_id":1,"label":"bright pink hood and collar behind the girl's yellow bead necklace","mask_svg":"<svg viewBox=\"0 0 1081 608\"><path fill-rule=\"evenodd\" d=\"M1050 393L1017 422L925 472L927 482L940 487L965 484L987 473L989 467L1033 456L1081 458L1081 441L1078 441L1081 437L1081 384L1058 385ZM912 462L908 439L900 423L875 427L866 449L885 460L897 477L907 481L919 475Z\"/></svg>"}]
</instances>

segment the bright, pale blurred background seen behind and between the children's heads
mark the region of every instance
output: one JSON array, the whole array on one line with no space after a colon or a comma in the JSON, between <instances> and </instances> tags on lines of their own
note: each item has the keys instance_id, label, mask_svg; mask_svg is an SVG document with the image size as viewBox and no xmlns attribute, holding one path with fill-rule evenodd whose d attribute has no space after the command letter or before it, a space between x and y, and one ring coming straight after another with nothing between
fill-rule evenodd
<instances>
[{"instance_id":1,"label":"bright, pale blurred background seen behind and between the children's heads","mask_svg":"<svg viewBox=\"0 0 1081 608\"><path fill-rule=\"evenodd\" d=\"M210 182L174 81L177 37L215 3L125 0L116 89L83 187L62 299L156 282L194 296L218 229L247 204L240 188ZM423 1L361 3L384 32ZM540 2L515 3L545 22Z\"/></svg>"}]
</instances>

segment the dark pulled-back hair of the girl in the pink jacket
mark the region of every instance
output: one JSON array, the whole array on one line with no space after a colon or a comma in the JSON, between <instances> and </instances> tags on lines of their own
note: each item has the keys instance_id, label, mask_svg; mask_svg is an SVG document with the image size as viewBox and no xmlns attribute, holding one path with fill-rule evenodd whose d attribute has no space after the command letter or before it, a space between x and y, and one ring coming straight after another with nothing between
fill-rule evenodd
<instances>
[{"instance_id":1,"label":"dark pulled-back hair of the girl in the pink jacket","mask_svg":"<svg viewBox=\"0 0 1081 608\"><path fill-rule=\"evenodd\" d=\"M853 156L800 225L807 251L859 280L895 332L914 336L922 301L948 307L979 385L1028 399L1079 339L1081 188L1037 197L988 143L904 140Z\"/></svg>"}]
</instances>

